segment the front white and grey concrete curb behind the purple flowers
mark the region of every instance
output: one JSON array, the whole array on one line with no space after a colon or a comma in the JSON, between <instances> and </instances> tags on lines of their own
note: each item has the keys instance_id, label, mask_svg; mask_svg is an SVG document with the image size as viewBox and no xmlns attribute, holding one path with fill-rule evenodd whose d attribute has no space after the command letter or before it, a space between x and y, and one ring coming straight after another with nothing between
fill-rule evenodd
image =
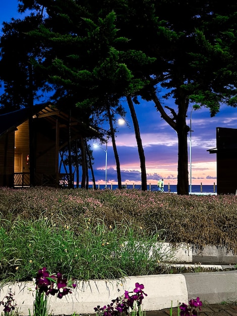
<instances>
[{"instance_id":1,"label":"front white and grey concrete curb behind the purple flowers","mask_svg":"<svg viewBox=\"0 0 237 316\"><path fill-rule=\"evenodd\" d=\"M123 295L125 290L133 291L136 282L144 284L147 297L143 300L143 308L146 311L169 308L171 301L175 307L179 302L188 303L189 299L197 296L209 304L237 301L237 271L185 273L80 282L67 298L56 299L51 296L50 312L53 315L71 315L73 312L92 314L97 305L109 304L112 299ZM33 282L4 286L0 292L1 299L9 292L9 288L15 293L20 314L29 315L29 309L32 314L35 295Z\"/></svg>"}]
</instances>

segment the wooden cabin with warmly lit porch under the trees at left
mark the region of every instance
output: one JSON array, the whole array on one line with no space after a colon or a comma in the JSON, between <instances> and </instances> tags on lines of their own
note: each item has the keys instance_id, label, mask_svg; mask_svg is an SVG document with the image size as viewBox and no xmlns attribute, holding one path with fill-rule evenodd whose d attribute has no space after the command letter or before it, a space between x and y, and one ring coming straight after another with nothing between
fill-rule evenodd
<instances>
[{"instance_id":1,"label":"wooden cabin with warmly lit porch under the trees at left","mask_svg":"<svg viewBox=\"0 0 237 316\"><path fill-rule=\"evenodd\" d=\"M30 133L29 118L34 130L34 185L60 186L64 181L58 170L58 155L70 139L95 137L95 129L80 122L77 115L60 111L50 103L0 115L0 186L29 186Z\"/></svg>"}]
</instances>

